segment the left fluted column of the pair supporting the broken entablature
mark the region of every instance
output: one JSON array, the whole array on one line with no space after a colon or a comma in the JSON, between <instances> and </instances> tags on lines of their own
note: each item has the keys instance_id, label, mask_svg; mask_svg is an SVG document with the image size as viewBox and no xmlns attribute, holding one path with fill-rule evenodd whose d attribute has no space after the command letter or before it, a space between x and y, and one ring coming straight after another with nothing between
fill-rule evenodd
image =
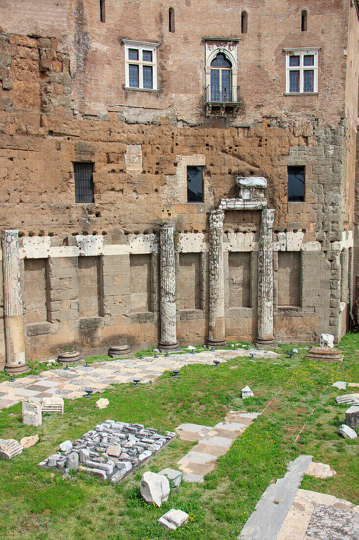
<instances>
[{"instance_id":1,"label":"left fluted column of the pair supporting the broken entablature","mask_svg":"<svg viewBox=\"0 0 359 540\"><path fill-rule=\"evenodd\" d=\"M223 210L212 210L209 217L209 329L208 345L227 345L224 319L224 274L223 274Z\"/></svg>"}]
</instances>

